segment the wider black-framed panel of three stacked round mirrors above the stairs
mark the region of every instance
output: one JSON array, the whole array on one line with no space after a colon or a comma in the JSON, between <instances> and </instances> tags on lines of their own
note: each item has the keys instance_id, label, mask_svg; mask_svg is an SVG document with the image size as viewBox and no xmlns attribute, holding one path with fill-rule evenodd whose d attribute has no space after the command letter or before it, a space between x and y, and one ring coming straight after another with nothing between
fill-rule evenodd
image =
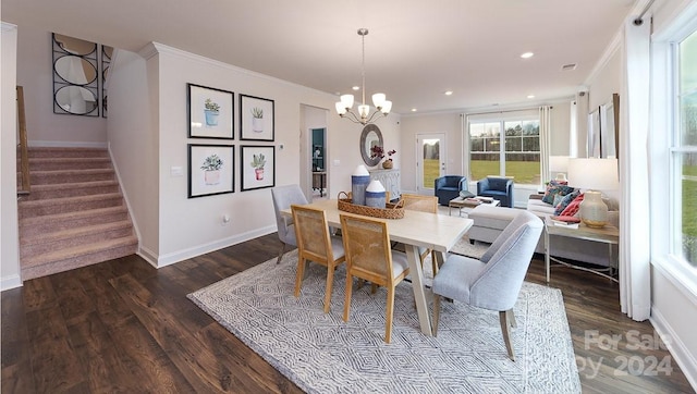
<instances>
[{"instance_id":1,"label":"wider black-framed panel of three stacked round mirrors above the stairs","mask_svg":"<svg viewBox=\"0 0 697 394\"><path fill-rule=\"evenodd\" d=\"M53 113L99 116L97 44L53 34Z\"/></svg>"}]
</instances>

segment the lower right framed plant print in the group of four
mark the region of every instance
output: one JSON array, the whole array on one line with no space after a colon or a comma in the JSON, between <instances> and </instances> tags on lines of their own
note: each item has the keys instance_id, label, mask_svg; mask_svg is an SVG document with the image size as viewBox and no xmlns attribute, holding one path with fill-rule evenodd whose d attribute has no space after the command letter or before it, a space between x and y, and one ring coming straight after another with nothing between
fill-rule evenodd
<instances>
[{"instance_id":1,"label":"lower right framed plant print in the group of four","mask_svg":"<svg viewBox=\"0 0 697 394\"><path fill-rule=\"evenodd\" d=\"M272 146L241 146L242 192L276 185L276 150Z\"/></svg>"}]
</instances>

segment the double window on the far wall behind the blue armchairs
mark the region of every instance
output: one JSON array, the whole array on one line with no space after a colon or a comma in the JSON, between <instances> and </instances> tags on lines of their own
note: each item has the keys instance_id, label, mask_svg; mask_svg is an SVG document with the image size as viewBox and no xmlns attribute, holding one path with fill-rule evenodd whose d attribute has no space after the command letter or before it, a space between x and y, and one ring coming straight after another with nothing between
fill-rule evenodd
<instances>
[{"instance_id":1,"label":"double window on the far wall behind the blue armchairs","mask_svg":"<svg viewBox=\"0 0 697 394\"><path fill-rule=\"evenodd\" d=\"M539 116L472 120L469 155L473 181L499 175L512 177L517 184L539 185Z\"/></svg>"}]
</instances>

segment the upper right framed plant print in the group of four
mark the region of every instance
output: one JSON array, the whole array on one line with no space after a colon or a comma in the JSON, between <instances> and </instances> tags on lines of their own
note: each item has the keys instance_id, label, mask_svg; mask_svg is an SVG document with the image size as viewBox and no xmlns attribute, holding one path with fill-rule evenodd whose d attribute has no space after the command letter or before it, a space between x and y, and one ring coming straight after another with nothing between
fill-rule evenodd
<instances>
[{"instance_id":1,"label":"upper right framed plant print in the group of four","mask_svg":"<svg viewBox=\"0 0 697 394\"><path fill-rule=\"evenodd\" d=\"M240 95L240 139L273 140L273 100Z\"/></svg>"}]
</instances>

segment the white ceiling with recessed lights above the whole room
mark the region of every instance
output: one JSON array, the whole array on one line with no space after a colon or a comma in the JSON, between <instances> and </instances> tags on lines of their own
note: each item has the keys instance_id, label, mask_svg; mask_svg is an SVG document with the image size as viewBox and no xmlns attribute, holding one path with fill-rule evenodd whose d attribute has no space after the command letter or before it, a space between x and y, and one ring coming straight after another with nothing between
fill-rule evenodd
<instances>
[{"instance_id":1,"label":"white ceiling with recessed lights above the whole room","mask_svg":"<svg viewBox=\"0 0 697 394\"><path fill-rule=\"evenodd\" d=\"M360 85L356 30L367 27L367 95L411 113L572 97L640 1L2 0L1 17L20 34L134 52L156 41L331 94Z\"/></svg>"}]
</instances>

